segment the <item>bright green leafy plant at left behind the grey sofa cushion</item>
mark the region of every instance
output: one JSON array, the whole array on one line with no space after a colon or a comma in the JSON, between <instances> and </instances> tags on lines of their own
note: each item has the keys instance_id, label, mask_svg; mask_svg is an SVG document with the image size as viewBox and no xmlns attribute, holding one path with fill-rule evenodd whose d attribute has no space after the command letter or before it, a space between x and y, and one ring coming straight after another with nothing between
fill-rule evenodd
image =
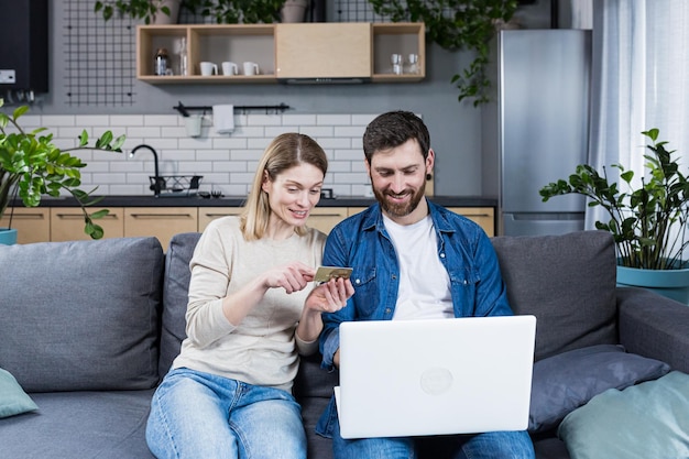
<instances>
[{"instance_id":1,"label":"bright green leafy plant at left behind the grey sofa cushion","mask_svg":"<svg viewBox=\"0 0 689 459\"><path fill-rule=\"evenodd\" d=\"M0 107L2 105L0 99ZM12 114L0 112L0 218L15 197L26 207L37 207L42 196L58 197L61 190L66 190L81 207L84 231L92 239L102 238L102 228L94 220L108 215L108 210L88 212L87 207L102 197L91 196L96 188L88 193L79 188L79 170L86 164L69 152L105 150L121 153L124 136L113 139L112 132L106 131L95 144L89 144L88 133L84 130L77 146L59 149L53 144L53 134L45 133L46 128L26 131L19 124L19 118L28 110L28 106L20 106Z\"/></svg>"}]
</instances>

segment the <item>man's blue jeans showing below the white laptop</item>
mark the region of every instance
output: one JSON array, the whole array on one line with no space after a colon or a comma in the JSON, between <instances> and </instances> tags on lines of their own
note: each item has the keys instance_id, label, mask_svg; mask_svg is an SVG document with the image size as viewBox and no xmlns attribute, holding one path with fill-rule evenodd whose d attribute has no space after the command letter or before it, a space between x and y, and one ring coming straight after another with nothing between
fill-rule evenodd
<instances>
[{"instance_id":1,"label":"man's blue jeans showing below the white laptop","mask_svg":"<svg viewBox=\"0 0 689 459\"><path fill-rule=\"evenodd\" d=\"M441 437L363 438L346 440L340 437L337 422L332 436L335 459L533 459L534 445L528 434L521 431L489 431L477 435Z\"/></svg>"}]
</instances>

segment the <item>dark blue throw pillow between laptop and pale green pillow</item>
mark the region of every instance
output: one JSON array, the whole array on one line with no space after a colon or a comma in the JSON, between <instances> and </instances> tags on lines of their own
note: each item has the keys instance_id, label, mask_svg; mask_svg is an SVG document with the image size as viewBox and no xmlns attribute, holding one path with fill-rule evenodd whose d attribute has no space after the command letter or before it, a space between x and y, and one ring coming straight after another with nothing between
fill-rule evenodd
<instances>
[{"instance_id":1,"label":"dark blue throw pillow between laptop and pale green pillow","mask_svg":"<svg viewBox=\"0 0 689 459\"><path fill-rule=\"evenodd\" d=\"M622 346L600 345L543 359L534 364L531 433L554 427L593 396L609 389L658 379L670 365L655 359L626 353Z\"/></svg>"}]
</instances>

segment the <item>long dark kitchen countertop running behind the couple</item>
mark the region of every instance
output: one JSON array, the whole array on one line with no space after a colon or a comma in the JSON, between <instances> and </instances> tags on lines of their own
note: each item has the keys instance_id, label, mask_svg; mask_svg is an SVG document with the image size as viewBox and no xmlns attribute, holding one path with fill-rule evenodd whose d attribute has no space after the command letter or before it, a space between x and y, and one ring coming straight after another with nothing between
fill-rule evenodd
<instances>
[{"instance_id":1,"label":"long dark kitchen countertop running behind the couple","mask_svg":"<svg viewBox=\"0 0 689 459\"><path fill-rule=\"evenodd\" d=\"M480 196L429 196L431 201L446 207L496 207L497 199ZM199 196L105 196L97 207L241 207L243 196L221 198L201 198ZM318 207L368 207L375 200L363 196L342 196L333 199L320 199ZM21 203L20 203L21 205ZM41 207L76 207L72 197L43 197Z\"/></svg>"}]
</instances>

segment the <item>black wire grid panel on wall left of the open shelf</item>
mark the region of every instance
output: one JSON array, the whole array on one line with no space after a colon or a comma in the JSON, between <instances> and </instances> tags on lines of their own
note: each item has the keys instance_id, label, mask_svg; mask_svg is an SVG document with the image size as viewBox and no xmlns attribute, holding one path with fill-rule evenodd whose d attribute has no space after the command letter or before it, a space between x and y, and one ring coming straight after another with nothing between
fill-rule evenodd
<instances>
[{"instance_id":1,"label":"black wire grid panel on wall left of the open shelf","mask_svg":"<svg viewBox=\"0 0 689 459\"><path fill-rule=\"evenodd\" d=\"M63 0L65 91L67 103L131 106L134 99L135 24L105 21L94 0Z\"/></svg>"}]
</instances>

